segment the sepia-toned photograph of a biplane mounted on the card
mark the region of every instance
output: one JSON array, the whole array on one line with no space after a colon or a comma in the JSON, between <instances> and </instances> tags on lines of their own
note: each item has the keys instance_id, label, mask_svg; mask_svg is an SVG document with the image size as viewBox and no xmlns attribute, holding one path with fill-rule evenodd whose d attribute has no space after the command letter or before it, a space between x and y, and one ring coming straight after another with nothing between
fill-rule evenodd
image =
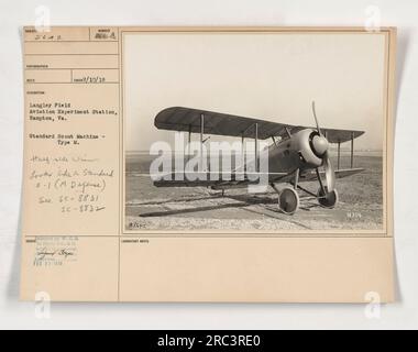
<instances>
[{"instance_id":1,"label":"sepia-toned photograph of a biplane mounted on the card","mask_svg":"<svg viewBox=\"0 0 418 352\"><path fill-rule=\"evenodd\" d=\"M125 230L383 230L386 34L124 33Z\"/></svg>"}]
</instances>

